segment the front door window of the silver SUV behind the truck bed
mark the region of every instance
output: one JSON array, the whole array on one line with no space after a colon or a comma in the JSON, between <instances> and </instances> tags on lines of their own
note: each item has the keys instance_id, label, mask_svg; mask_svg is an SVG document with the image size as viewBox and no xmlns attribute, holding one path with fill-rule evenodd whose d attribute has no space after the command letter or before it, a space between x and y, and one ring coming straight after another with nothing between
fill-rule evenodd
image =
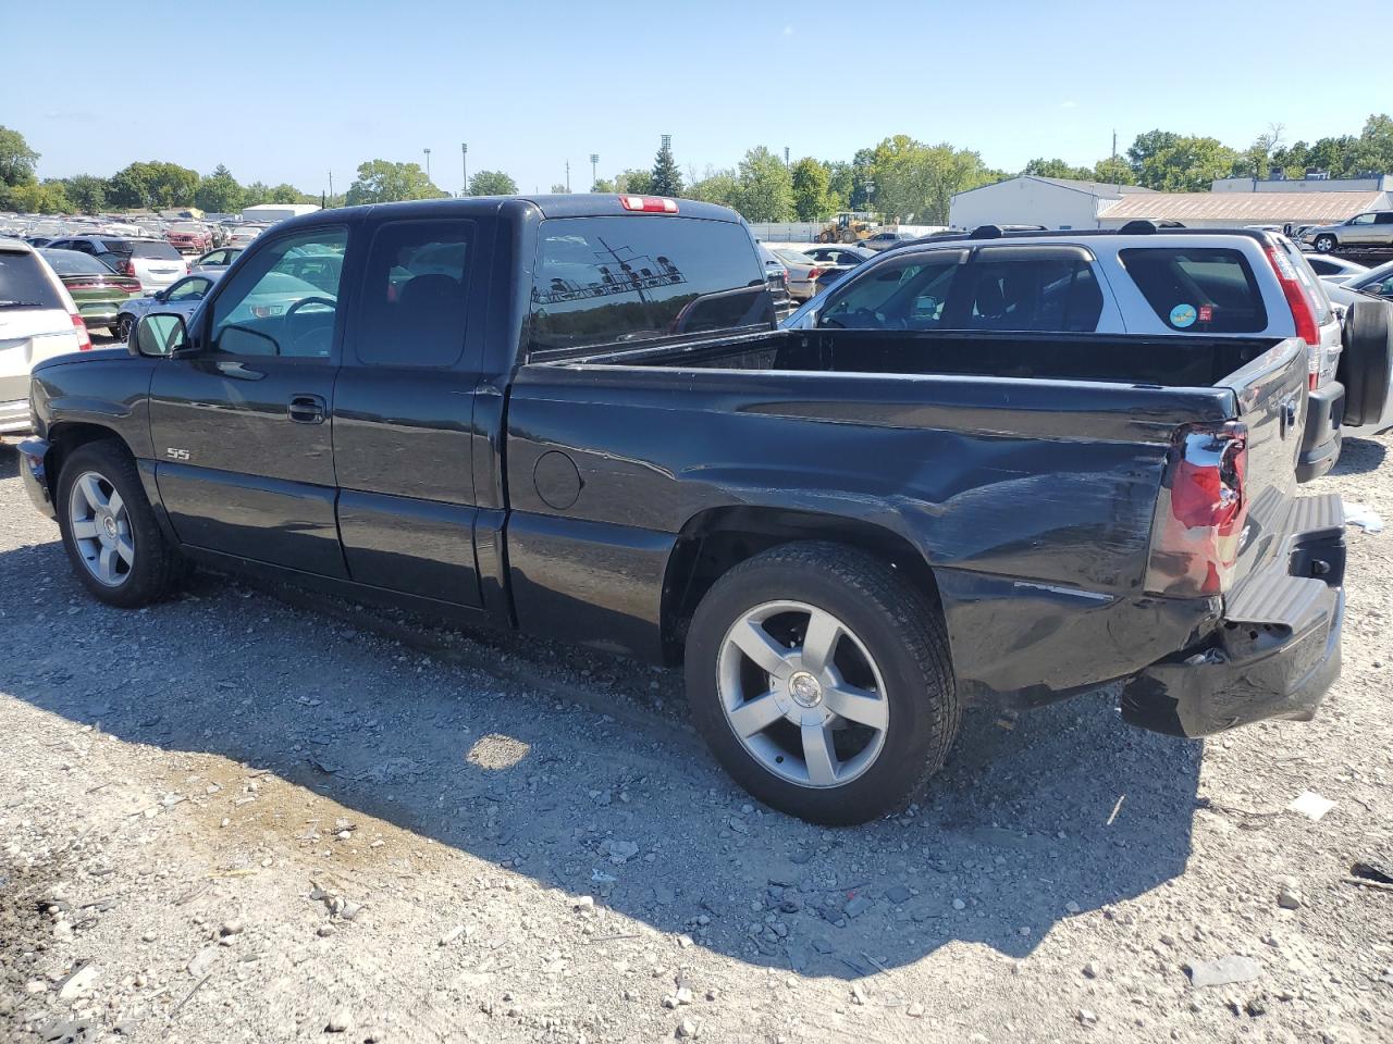
<instances>
[{"instance_id":1,"label":"front door window of the silver SUV behind the truck bed","mask_svg":"<svg viewBox=\"0 0 1393 1044\"><path fill-rule=\"evenodd\" d=\"M832 301L819 327L839 330L937 330L967 251L933 251L876 264Z\"/></svg>"}]
</instances>

